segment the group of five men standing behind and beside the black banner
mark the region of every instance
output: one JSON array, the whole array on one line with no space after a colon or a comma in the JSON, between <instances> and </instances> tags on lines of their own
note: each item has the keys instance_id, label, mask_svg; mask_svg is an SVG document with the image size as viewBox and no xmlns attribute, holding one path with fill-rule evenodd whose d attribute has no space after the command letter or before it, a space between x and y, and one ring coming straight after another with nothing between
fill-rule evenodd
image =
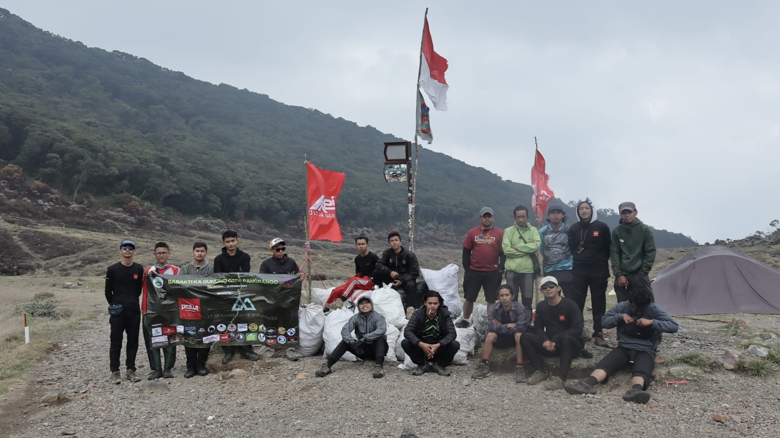
<instances>
[{"instance_id":1,"label":"group of five men standing behind and beside the black banner","mask_svg":"<svg viewBox=\"0 0 780 438\"><path fill-rule=\"evenodd\" d=\"M174 377L172 368L176 365L176 346L168 346L160 349L151 348L151 330L146 322L147 317L147 282L146 277L151 273L169 275L207 275L220 272L250 272L251 256L239 249L239 238L236 231L227 230L222 233L222 253L215 257L214 264L208 263L206 256L208 246L204 242L193 244L193 261L183 267L173 266L168 263L171 249L165 242L154 245L154 259L156 262L144 269L140 263L133 261L136 254L136 242L125 239L119 244L119 262L114 263L106 271L105 299L109 305L109 319L111 326L111 346L109 348L109 360L111 368L111 380L120 383L122 376L119 373L119 359L122 352L122 341L126 340L126 380L137 382L141 378L137 376L136 356L138 351L138 333L140 323L144 320L144 344L146 344L147 358L151 373L148 380ZM271 256L263 260L260 267L261 274L302 274L292 258L285 253L285 242L282 238L275 238L269 243ZM303 275L303 274L302 274ZM140 298L140 299L139 299ZM236 355L236 349L244 359L256 361L261 355L255 353L250 345L225 345L222 346L224 356L222 363L228 363ZM263 347L261 354L270 357L273 355L271 348ZM208 374L206 360L209 348L185 347L186 373L185 377L205 376ZM164 358L164 359L163 359Z\"/></svg>"}]
</instances>

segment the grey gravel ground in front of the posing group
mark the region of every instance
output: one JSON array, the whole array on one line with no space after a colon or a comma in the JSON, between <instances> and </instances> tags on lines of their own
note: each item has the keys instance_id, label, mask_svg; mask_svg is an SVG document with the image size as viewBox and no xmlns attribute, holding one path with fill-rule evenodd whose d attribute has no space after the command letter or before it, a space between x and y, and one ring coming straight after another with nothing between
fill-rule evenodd
<instances>
[{"instance_id":1,"label":"grey gravel ground in front of the posing group","mask_svg":"<svg viewBox=\"0 0 780 438\"><path fill-rule=\"evenodd\" d=\"M750 329L780 326L777 316L740 317ZM663 358L690 351L720 357L744 339L715 330L721 323L678 321L683 330L665 335ZM35 366L32 408L14 408L19 400L2 403L3 415L16 415L8 436L400 436L407 427L418 436L778 436L780 428L778 375L761 379L717 369L666 387L663 362L645 405L622 401L627 373L601 386L595 397L569 396L513 383L510 373L498 371L472 380L473 360L451 366L450 377L414 377L388 362L383 379L371 378L371 363L339 362L321 379L314 376L321 357L234 359L229 366L246 375L184 379L183 349L176 379L158 380L165 389L144 393L145 381L108 382L108 317L90 324ZM578 361L580 373L607 351L589 345L597 358ZM141 348L139 365L146 362ZM41 404L51 390L62 390L70 401ZM714 421L715 413L725 414L726 422Z\"/></svg>"}]
</instances>

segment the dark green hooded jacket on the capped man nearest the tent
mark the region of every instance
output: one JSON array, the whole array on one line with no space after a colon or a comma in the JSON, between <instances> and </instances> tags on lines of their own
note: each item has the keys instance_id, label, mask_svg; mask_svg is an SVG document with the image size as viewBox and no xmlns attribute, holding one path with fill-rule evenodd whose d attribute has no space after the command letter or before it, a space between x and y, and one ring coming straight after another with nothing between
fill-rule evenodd
<instances>
[{"instance_id":1,"label":"dark green hooded jacket on the capped man nearest the tent","mask_svg":"<svg viewBox=\"0 0 780 438\"><path fill-rule=\"evenodd\" d=\"M638 218L633 224L620 224L612 230L612 245L609 249L612 273L615 277L640 271L650 274L655 263L655 239L650 227Z\"/></svg>"}]
</instances>

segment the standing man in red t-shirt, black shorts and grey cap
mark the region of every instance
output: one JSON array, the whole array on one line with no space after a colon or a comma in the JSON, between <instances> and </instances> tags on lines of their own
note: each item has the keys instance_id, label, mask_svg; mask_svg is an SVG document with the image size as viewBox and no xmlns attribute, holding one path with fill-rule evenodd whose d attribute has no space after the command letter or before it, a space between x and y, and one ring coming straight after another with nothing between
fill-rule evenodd
<instances>
[{"instance_id":1,"label":"standing man in red t-shirt, black shorts and grey cap","mask_svg":"<svg viewBox=\"0 0 780 438\"><path fill-rule=\"evenodd\" d=\"M504 274L504 231L493 226L495 216L491 207L482 207L479 220L480 226L471 228L463 239L463 319L455 327L469 327L480 288L488 307L496 301Z\"/></svg>"}]
</instances>

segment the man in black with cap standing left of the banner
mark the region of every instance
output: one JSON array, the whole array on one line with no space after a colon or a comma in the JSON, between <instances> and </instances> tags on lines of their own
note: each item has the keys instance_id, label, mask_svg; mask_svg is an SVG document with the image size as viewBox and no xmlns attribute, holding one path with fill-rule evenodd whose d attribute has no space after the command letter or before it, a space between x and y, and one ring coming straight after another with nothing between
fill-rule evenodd
<instances>
[{"instance_id":1,"label":"man in black with cap standing left of the banner","mask_svg":"<svg viewBox=\"0 0 780 438\"><path fill-rule=\"evenodd\" d=\"M138 352L138 328L141 323L141 309L138 297L144 284L144 267L133 263L136 242L129 238L119 244L122 259L108 267L105 273L105 300L109 305L122 306L119 314L108 318L111 325L111 347L108 350L112 383L122 382L119 374L119 356L122 354L122 337L127 334L125 366L126 379L138 382L136 376L136 355Z\"/></svg>"}]
</instances>

